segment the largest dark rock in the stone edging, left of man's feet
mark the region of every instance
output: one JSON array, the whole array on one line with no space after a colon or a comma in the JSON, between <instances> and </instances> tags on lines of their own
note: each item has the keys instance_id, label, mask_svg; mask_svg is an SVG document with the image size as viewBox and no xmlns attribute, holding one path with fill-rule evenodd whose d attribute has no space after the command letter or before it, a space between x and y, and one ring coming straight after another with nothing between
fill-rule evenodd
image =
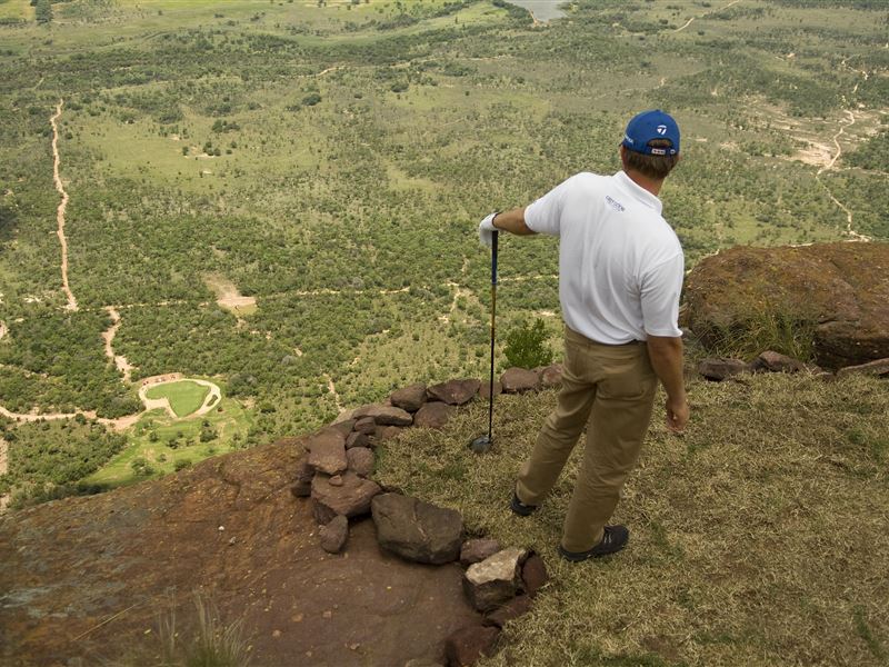
<instances>
[{"instance_id":1,"label":"largest dark rock in the stone edging, left of man's feet","mask_svg":"<svg viewBox=\"0 0 889 667\"><path fill-rule=\"evenodd\" d=\"M377 496L371 511L382 548L416 563L457 560L463 536L460 512L399 494Z\"/></svg>"}]
</instances>

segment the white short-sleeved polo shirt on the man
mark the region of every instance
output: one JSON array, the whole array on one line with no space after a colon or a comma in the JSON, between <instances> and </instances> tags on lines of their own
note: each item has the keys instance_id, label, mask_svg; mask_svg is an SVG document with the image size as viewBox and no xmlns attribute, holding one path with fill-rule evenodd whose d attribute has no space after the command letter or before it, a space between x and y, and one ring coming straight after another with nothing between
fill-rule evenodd
<instances>
[{"instance_id":1,"label":"white short-sleeved polo shirt on the man","mask_svg":"<svg viewBox=\"0 0 889 667\"><path fill-rule=\"evenodd\" d=\"M682 335L682 247L660 199L623 171L581 172L530 205L532 231L559 237L565 323L607 345Z\"/></svg>"}]
</instances>

